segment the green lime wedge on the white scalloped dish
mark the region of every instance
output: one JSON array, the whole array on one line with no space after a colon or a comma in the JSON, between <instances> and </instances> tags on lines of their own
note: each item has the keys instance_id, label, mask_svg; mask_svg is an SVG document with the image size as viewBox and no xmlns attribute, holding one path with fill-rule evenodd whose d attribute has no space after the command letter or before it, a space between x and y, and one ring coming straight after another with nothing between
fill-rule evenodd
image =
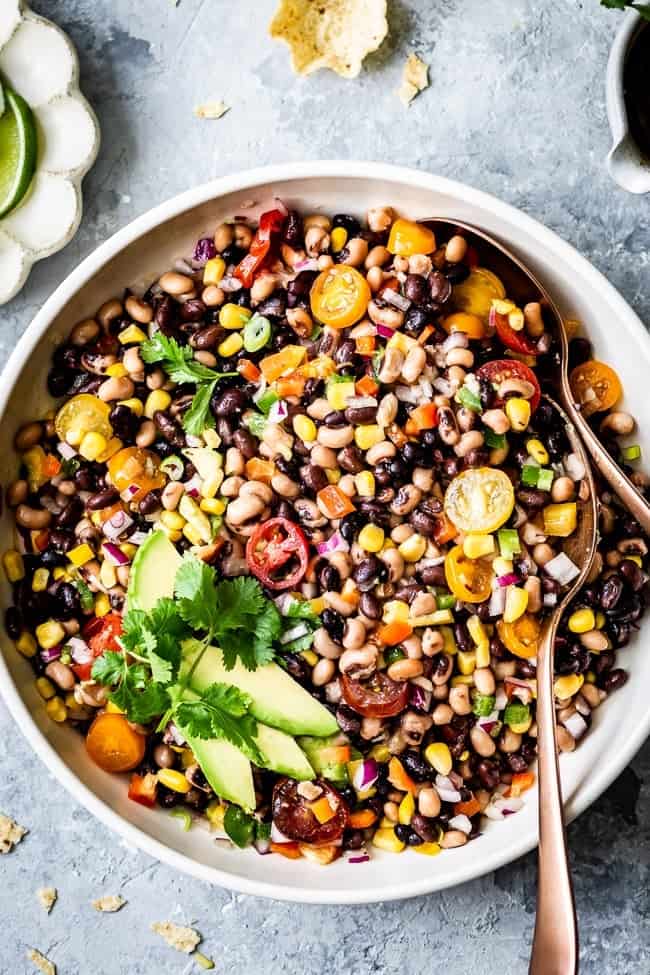
<instances>
[{"instance_id":1,"label":"green lime wedge on the white scalloped dish","mask_svg":"<svg viewBox=\"0 0 650 975\"><path fill-rule=\"evenodd\" d=\"M32 110L15 91L0 96L0 217L18 206L36 169L36 124Z\"/></svg>"}]
</instances>

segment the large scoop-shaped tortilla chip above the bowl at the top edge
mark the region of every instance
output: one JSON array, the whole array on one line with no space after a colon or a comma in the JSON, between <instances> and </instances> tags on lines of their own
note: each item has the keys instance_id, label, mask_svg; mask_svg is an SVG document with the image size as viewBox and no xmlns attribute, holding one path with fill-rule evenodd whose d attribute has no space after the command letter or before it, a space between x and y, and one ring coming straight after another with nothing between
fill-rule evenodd
<instances>
[{"instance_id":1,"label":"large scoop-shaped tortilla chip above the bowl at the top edge","mask_svg":"<svg viewBox=\"0 0 650 975\"><path fill-rule=\"evenodd\" d=\"M269 28L291 49L296 74L331 68L356 78L388 33L387 0L280 0Z\"/></svg>"}]
</instances>

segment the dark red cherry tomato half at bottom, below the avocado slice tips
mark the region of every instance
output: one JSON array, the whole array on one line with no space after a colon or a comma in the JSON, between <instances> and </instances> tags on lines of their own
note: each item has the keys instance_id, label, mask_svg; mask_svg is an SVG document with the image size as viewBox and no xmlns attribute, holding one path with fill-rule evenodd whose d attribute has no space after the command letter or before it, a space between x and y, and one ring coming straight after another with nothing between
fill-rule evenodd
<instances>
[{"instance_id":1,"label":"dark red cherry tomato half at bottom, below the avocado slice tips","mask_svg":"<svg viewBox=\"0 0 650 975\"><path fill-rule=\"evenodd\" d=\"M298 793L298 783L294 779L280 779L273 789L273 822L287 839L325 846L343 836L350 811L342 796L324 779L316 779L315 785L323 790L319 800L325 799L334 811L331 818L319 822L309 801Z\"/></svg>"}]
</instances>

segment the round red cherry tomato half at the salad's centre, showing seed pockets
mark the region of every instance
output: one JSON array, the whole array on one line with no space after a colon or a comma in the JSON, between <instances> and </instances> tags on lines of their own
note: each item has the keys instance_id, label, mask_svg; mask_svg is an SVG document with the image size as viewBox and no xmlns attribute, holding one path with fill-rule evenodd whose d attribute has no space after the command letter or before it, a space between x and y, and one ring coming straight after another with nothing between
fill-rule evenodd
<instances>
[{"instance_id":1,"label":"round red cherry tomato half at the salad's centre, showing seed pockets","mask_svg":"<svg viewBox=\"0 0 650 975\"><path fill-rule=\"evenodd\" d=\"M246 561L269 589L290 589L307 571L309 544L302 529L288 518L269 518L248 539Z\"/></svg>"}]
</instances>

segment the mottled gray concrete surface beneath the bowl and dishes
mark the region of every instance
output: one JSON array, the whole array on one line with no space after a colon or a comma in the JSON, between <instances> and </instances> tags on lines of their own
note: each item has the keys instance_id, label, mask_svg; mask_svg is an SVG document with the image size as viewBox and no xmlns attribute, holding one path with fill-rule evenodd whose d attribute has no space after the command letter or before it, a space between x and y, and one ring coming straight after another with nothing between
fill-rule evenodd
<instances>
[{"instance_id":1,"label":"mottled gray concrete surface beneath the bowl and dishes","mask_svg":"<svg viewBox=\"0 0 650 975\"><path fill-rule=\"evenodd\" d=\"M274 0L34 0L77 44L103 130L76 239L37 265L0 309L0 356L44 299L109 234L179 190L284 160L374 158L464 180L522 207L575 244L650 322L650 198L608 180L607 53L619 14L597 0L391 0L391 36L353 82L295 78L266 35ZM405 111L406 52L431 88ZM193 106L231 111L201 122ZM30 835L0 864L0 972L32 971L29 945L60 975L200 971L149 931L194 921L216 971L371 975L526 970L534 857L428 898L368 908L297 907L208 887L125 849L32 755L0 704L0 808ZM570 829L585 975L650 971L650 779L646 744L615 790ZM34 891L59 889L48 917ZM96 914L91 898L128 905Z\"/></svg>"}]
</instances>

